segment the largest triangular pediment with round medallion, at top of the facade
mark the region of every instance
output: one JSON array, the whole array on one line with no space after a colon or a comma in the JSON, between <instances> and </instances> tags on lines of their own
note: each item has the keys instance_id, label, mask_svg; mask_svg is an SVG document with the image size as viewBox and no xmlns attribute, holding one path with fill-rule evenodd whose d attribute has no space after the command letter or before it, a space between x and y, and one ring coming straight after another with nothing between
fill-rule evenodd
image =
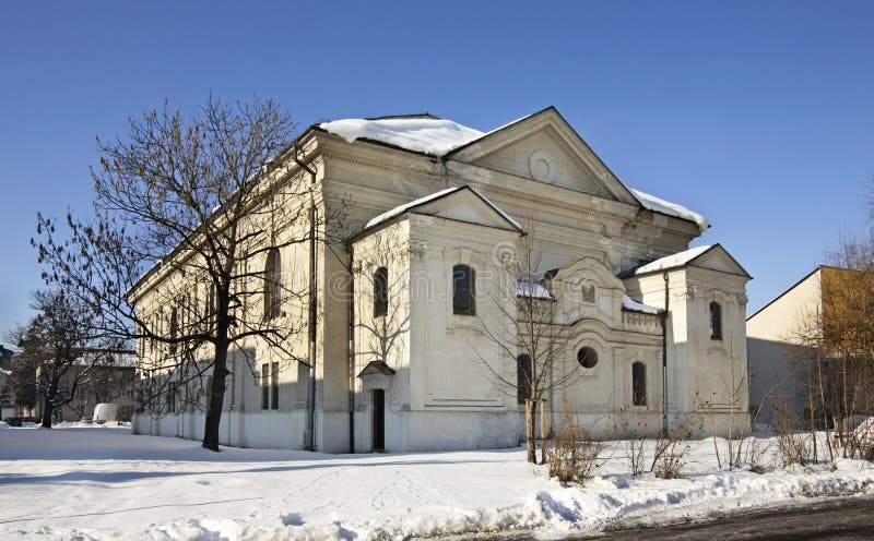
<instances>
[{"instance_id":1,"label":"largest triangular pediment with round medallion, at top of the facade","mask_svg":"<svg viewBox=\"0 0 874 541\"><path fill-rule=\"evenodd\" d=\"M448 159L637 205L558 111L550 107L449 153Z\"/></svg>"}]
</instances>

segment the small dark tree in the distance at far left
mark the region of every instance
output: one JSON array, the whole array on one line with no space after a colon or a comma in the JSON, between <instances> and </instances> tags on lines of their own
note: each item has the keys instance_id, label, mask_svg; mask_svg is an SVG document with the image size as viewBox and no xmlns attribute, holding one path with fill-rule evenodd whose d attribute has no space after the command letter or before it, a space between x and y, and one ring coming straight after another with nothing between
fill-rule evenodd
<instances>
[{"instance_id":1,"label":"small dark tree in the distance at far left","mask_svg":"<svg viewBox=\"0 0 874 541\"><path fill-rule=\"evenodd\" d=\"M62 291L36 291L32 300L37 315L12 335L21 348L16 361L36 374L43 428L50 429L54 411L72 400L91 370L122 344L96 329L88 306Z\"/></svg>"}]
</instances>

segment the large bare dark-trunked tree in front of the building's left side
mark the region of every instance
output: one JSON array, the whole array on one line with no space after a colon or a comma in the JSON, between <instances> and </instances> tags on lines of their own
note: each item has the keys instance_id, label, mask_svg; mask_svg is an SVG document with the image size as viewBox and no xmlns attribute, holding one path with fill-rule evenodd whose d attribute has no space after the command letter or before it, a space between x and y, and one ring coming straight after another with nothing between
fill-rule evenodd
<instances>
[{"instance_id":1,"label":"large bare dark-trunked tree in front of the building's left side","mask_svg":"<svg viewBox=\"0 0 874 541\"><path fill-rule=\"evenodd\" d=\"M310 364L314 376L311 354L294 350L292 337L312 327L315 273L288 274L291 252L315 253L326 217L315 173L290 144L294 130L271 100L210 98L191 117L165 104L131 119L125 140L98 142L92 220L68 216L61 238L55 220L39 217L34 243L46 280L87 303L103 328L139 340L140 369L154 376L147 404L166 404L192 382L204 389L203 446L212 450L232 347L260 340L272 358Z\"/></svg>"}]
</instances>

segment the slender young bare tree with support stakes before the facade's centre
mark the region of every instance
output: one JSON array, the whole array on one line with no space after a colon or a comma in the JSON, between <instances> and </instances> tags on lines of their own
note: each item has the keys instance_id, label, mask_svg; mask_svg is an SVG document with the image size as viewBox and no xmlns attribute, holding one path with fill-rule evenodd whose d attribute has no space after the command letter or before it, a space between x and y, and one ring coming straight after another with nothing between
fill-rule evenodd
<instances>
[{"instance_id":1,"label":"slender young bare tree with support stakes before the facade's centre","mask_svg":"<svg viewBox=\"0 0 874 541\"><path fill-rule=\"evenodd\" d=\"M569 370L558 368L568 346L560 326L556 325L555 299L542 282L539 240L529 232L513 247L504 248L506 250L495 251L503 272L491 291L498 316L488 321L481 317L480 323L498 356L516 360L516 370L508 373L494 366L482 352L480 358L495 387L524 402L527 456L528 461L536 462L535 408L540 408L540 436L543 438L546 436L546 396L575 382L579 371L577 363ZM542 457L545 460L545 450Z\"/></svg>"}]
</instances>

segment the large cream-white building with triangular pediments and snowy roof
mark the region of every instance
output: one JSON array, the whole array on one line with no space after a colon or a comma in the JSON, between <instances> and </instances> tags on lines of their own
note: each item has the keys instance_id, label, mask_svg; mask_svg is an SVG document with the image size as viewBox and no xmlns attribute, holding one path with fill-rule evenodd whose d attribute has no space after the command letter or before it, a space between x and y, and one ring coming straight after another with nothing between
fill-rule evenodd
<instances>
[{"instance_id":1,"label":"large cream-white building with triangular pediments and snowy roof","mask_svg":"<svg viewBox=\"0 0 874 541\"><path fill-rule=\"evenodd\" d=\"M605 434L629 419L658 431L708 414L720 433L748 422L745 385L730 388L746 381L749 276L719 244L689 249L709 224L626 187L556 109L488 133L427 115L340 120L297 145L321 212L352 202L346 242L315 254L317 449L517 445L524 407L500 384L517 381L517 359L495 336L531 296L553 306L562 344L550 423L564 401ZM535 276L500 294L523 236ZM283 268L308 256L288 250ZM336 294L350 272L352 294ZM255 366L272 362L250 349ZM306 370L283 370L267 395L257 374L236 374L223 443L303 448ZM200 437L202 413L146 412L135 430Z\"/></svg>"}]
</instances>

